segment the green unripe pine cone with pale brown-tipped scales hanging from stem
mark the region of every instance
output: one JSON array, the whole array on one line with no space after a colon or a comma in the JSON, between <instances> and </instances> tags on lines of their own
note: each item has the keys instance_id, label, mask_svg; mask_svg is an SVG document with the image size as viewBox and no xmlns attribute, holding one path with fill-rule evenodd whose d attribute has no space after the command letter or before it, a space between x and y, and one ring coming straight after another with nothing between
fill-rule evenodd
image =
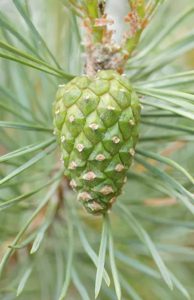
<instances>
[{"instance_id":1,"label":"green unripe pine cone with pale brown-tipped scales hanging from stem","mask_svg":"<svg viewBox=\"0 0 194 300\"><path fill-rule=\"evenodd\" d=\"M126 182L139 134L140 105L126 75L99 70L60 85L53 125L65 172L92 214L111 208Z\"/></svg>"}]
</instances>

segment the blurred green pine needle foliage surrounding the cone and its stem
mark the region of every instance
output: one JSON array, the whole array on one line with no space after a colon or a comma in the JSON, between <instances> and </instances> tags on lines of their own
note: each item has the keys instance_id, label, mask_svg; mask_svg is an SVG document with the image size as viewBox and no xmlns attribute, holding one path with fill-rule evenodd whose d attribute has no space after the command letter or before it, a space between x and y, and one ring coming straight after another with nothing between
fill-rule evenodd
<instances>
[{"instance_id":1,"label":"blurred green pine needle foliage surrounding the cone and its stem","mask_svg":"<svg viewBox=\"0 0 194 300\"><path fill-rule=\"evenodd\" d=\"M0 300L15 299L16 294L18 300L58 299L64 280L70 279L71 261L66 299L94 298L96 254L90 247L98 253L102 218L84 214L67 191L52 137L57 85L82 72L82 28L63 4L0 1L0 39L41 63L23 59L0 43L2 53L54 74L11 61L10 56L0 58ZM108 0L115 26L121 27L125 4ZM170 30L185 10L190 13ZM109 215L123 300L194 298L193 15L193 1L164 0L126 66L144 108L135 161L124 194ZM168 285L171 278L172 291L160 274L163 262L169 272L162 275ZM109 287L102 280L98 299L116 299L111 276Z\"/></svg>"}]
</instances>

